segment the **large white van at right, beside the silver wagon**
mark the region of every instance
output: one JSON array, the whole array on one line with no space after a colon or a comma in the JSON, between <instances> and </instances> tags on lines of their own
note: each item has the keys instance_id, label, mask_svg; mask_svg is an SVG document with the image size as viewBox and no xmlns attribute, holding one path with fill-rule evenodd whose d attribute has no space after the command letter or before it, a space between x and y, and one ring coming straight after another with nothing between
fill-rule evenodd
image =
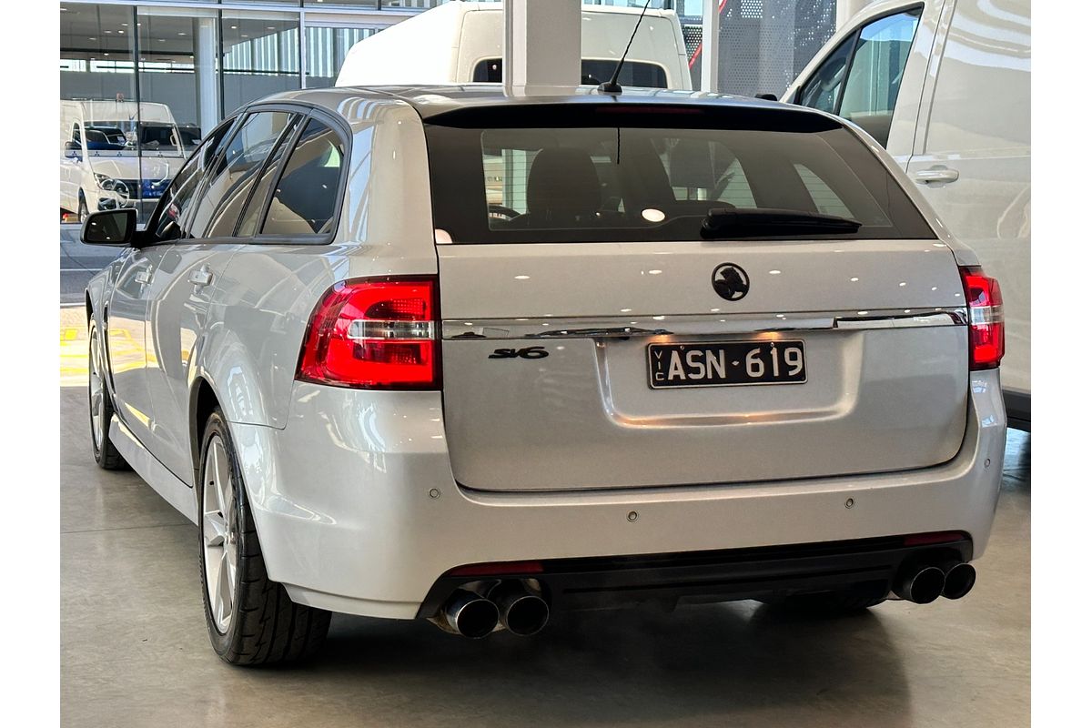
<instances>
[{"instance_id":1,"label":"large white van at right, beside the silver wagon","mask_svg":"<svg viewBox=\"0 0 1092 728\"><path fill-rule=\"evenodd\" d=\"M1009 423L1030 429L1031 0L875 2L782 100L870 133L997 276Z\"/></svg>"}]
</instances>

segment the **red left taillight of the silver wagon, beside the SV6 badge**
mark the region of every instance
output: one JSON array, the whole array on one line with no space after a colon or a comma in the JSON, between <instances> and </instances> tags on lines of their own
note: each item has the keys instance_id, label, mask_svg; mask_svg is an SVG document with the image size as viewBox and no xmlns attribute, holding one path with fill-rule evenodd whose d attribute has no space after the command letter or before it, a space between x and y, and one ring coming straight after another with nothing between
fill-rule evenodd
<instances>
[{"instance_id":1,"label":"red left taillight of the silver wagon, beside the SV6 badge","mask_svg":"<svg viewBox=\"0 0 1092 728\"><path fill-rule=\"evenodd\" d=\"M435 277L335 284L311 314L296 379L365 390L440 386Z\"/></svg>"}]
</instances>

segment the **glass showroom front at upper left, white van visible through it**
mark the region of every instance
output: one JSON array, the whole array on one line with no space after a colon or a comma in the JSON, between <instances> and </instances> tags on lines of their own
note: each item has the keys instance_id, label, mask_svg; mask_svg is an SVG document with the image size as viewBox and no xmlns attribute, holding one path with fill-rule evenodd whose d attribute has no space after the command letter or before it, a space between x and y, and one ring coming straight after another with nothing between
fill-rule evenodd
<instances>
[{"instance_id":1,"label":"glass showroom front at upper left, white van visible through it","mask_svg":"<svg viewBox=\"0 0 1092 728\"><path fill-rule=\"evenodd\" d=\"M146 218L225 116L332 86L354 43L444 1L62 0L62 219L118 206Z\"/></svg>"}]
</instances>

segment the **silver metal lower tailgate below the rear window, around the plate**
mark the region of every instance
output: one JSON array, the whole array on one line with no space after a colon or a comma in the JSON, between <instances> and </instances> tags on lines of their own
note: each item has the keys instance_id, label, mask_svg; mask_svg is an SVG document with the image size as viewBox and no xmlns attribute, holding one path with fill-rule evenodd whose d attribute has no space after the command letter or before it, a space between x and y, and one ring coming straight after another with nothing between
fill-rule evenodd
<instances>
[{"instance_id":1,"label":"silver metal lower tailgate below the rear window, around the plate","mask_svg":"<svg viewBox=\"0 0 1092 728\"><path fill-rule=\"evenodd\" d=\"M966 330L951 310L963 294L947 248L855 241L852 249L689 242L672 244L670 255L650 243L438 250L444 418L454 475L466 487L621 488L897 470L942 463L962 440ZM710 284L725 262L751 279L739 301L723 300ZM656 333L626 335L627 327ZM650 344L779 341L803 342L805 383L650 386ZM498 356L505 349L524 353Z\"/></svg>"}]
</instances>

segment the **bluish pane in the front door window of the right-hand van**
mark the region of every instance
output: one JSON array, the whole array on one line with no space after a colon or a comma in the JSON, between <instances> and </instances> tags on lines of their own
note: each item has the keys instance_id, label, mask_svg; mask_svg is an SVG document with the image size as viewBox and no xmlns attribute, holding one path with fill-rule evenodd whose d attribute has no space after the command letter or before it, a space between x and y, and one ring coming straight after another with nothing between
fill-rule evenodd
<instances>
[{"instance_id":1,"label":"bluish pane in the front door window of the right-hand van","mask_svg":"<svg viewBox=\"0 0 1092 728\"><path fill-rule=\"evenodd\" d=\"M839 115L887 145L921 10L888 15L860 28Z\"/></svg>"}]
</instances>

